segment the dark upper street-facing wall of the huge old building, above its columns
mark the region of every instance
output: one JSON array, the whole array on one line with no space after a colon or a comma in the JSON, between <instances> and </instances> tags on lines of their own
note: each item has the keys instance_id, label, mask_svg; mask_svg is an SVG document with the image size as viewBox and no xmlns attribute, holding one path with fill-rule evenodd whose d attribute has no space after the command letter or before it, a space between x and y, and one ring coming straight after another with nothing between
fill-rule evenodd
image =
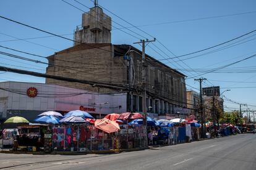
<instances>
[{"instance_id":1,"label":"dark upper street-facing wall of the huge old building, above its columns","mask_svg":"<svg viewBox=\"0 0 256 170\"><path fill-rule=\"evenodd\" d=\"M135 82L134 86L142 84L142 56L136 52L132 52L134 60ZM177 103L177 105L185 106L187 102L186 85L184 76L179 75L175 71L147 59L146 67L146 86L147 90ZM177 102L176 102L177 101ZM182 103L183 102L183 103Z\"/></svg>"}]
</instances>

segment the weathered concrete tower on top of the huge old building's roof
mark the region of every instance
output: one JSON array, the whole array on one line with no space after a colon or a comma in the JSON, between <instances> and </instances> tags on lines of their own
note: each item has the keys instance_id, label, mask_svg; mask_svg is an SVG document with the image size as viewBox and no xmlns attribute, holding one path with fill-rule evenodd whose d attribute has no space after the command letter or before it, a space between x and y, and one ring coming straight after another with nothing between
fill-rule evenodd
<instances>
[{"instance_id":1,"label":"weathered concrete tower on top of the huge old building's roof","mask_svg":"<svg viewBox=\"0 0 256 170\"><path fill-rule=\"evenodd\" d=\"M74 33L74 46L80 43L111 43L111 17L101 7L92 7L82 14L82 29Z\"/></svg>"}]
</instances>

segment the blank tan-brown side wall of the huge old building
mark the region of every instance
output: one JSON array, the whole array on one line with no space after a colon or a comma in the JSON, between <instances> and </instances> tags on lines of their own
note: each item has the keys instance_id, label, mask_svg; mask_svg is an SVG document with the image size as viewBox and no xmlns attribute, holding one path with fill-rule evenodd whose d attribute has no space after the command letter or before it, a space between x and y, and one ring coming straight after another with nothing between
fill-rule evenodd
<instances>
[{"instance_id":1,"label":"blank tan-brown side wall of the huge old building","mask_svg":"<svg viewBox=\"0 0 256 170\"><path fill-rule=\"evenodd\" d=\"M125 84L126 67L119 57L114 57L111 52L111 44L98 48L82 49L80 44L70 49L58 52L49 59L48 75L62 76L67 78L99 81L103 83ZM77 49L75 51L75 49ZM103 50L105 49L105 50ZM59 84L61 86L86 89L95 92L113 92L111 89L93 87L88 84L71 83L55 79L46 79L47 84Z\"/></svg>"}]
</instances>

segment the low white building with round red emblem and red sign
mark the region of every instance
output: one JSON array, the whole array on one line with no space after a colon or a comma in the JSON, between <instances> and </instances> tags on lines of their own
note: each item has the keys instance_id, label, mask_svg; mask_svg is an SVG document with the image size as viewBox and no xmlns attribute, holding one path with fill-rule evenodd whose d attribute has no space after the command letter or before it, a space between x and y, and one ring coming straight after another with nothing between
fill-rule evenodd
<instances>
[{"instance_id":1,"label":"low white building with round red emblem and red sign","mask_svg":"<svg viewBox=\"0 0 256 170\"><path fill-rule=\"evenodd\" d=\"M109 113L124 113L126 94L96 94L95 92L59 86L55 84L0 83L0 119L23 116L33 121L44 111L85 110L94 118Z\"/></svg>"}]
</instances>

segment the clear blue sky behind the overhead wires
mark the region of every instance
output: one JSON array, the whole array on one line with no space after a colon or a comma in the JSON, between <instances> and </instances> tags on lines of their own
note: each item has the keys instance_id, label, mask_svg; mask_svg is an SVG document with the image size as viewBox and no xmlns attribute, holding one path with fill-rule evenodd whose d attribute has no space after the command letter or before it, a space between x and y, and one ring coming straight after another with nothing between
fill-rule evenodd
<instances>
[{"instance_id":1,"label":"clear blue sky behind the overhead wires","mask_svg":"<svg viewBox=\"0 0 256 170\"><path fill-rule=\"evenodd\" d=\"M85 6L82 6L73 0L66 1L86 12L88 9L85 6L93 7L93 2L90 0L77 0ZM164 44L169 51L173 52L173 54L177 56L220 44L221 42L228 41L256 29L256 1L254 0L99 0L99 4L114 14L119 15L119 17L124 18L133 25L139 26L141 30L155 37L158 41ZM0 1L1 16L27 23L28 25L50 31L52 33L66 34L65 37L70 39L73 38L75 26L81 24L82 11L79 9L75 9L61 0ZM111 16L114 22L117 22L125 27L130 26L128 23L120 20L106 10L105 13ZM116 25L116 23L113 23L113 26L116 26L117 28L121 27ZM140 35L134 34L129 30L124 31L134 34L134 36L138 37L139 39L142 39L143 37L152 39L150 36L148 36L148 34L145 34L136 28L129 29ZM179 58L182 60L189 57L194 57L195 55L204 54L202 56L195 57L194 59L187 59L183 62L181 62L179 59L174 59L175 62L173 60L169 60L169 62L168 60L163 60L162 62L187 75L186 83L189 84L187 89L190 89L190 86L198 88L198 82L194 81L194 78L191 77L200 74L201 72L199 71L207 71L211 68L221 67L256 54L254 39L255 34L256 32L233 41L236 42L236 44L232 44L233 42L230 42L229 44L225 44L208 51ZM41 33L40 31L32 30L25 26L17 25L0 18L0 46L11 47L20 51L48 56L54 54L56 51L66 49L73 44L71 41L56 37L38 38L41 36L49 36L49 34ZM37 39L17 41L17 38ZM139 41L139 39L113 28L113 44L132 44L132 42ZM147 54L155 57L155 59L163 59L163 57L167 57L167 55L169 57L174 57L174 55L168 50L164 49L164 47L161 46L160 42L158 41L150 44L150 46L147 46ZM164 53L154 45L160 48ZM230 45L228 46L229 48L225 47L227 45ZM139 49L141 48L137 45L135 45L135 47ZM158 53L150 49L150 47L155 49L155 51ZM220 47L224 47L225 49L211 54L205 54L205 52L211 52ZM28 57L30 59L47 62L46 59L20 54L18 52L2 49L1 47L0 49L1 52L9 52L23 57ZM24 60L10 58L2 54L0 54L0 61L0 65L2 66L45 73L46 65L43 64L26 62ZM197 76L196 78L203 77L208 79L208 81L203 83L203 87L220 86L221 92L225 91L226 89L231 89L231 91L224 93L228 99L232 99L236 102L255 105L255 107L250 106L250 108L256 108L255 68L256 57L237 63L236 65L232 65L228 68L224 68L223 70L218 70L218 73L208 73L207 75ZM234 73L237 72L237 70L245 73ZM1 72L0 81L6 80L45 83L45 79L43 78ZM239 105L232 104L228 101L224 102L224 105L229 107L226 108L227 110L233 109L233 107L239 107Z\"/></svg>"}]
</instances>

